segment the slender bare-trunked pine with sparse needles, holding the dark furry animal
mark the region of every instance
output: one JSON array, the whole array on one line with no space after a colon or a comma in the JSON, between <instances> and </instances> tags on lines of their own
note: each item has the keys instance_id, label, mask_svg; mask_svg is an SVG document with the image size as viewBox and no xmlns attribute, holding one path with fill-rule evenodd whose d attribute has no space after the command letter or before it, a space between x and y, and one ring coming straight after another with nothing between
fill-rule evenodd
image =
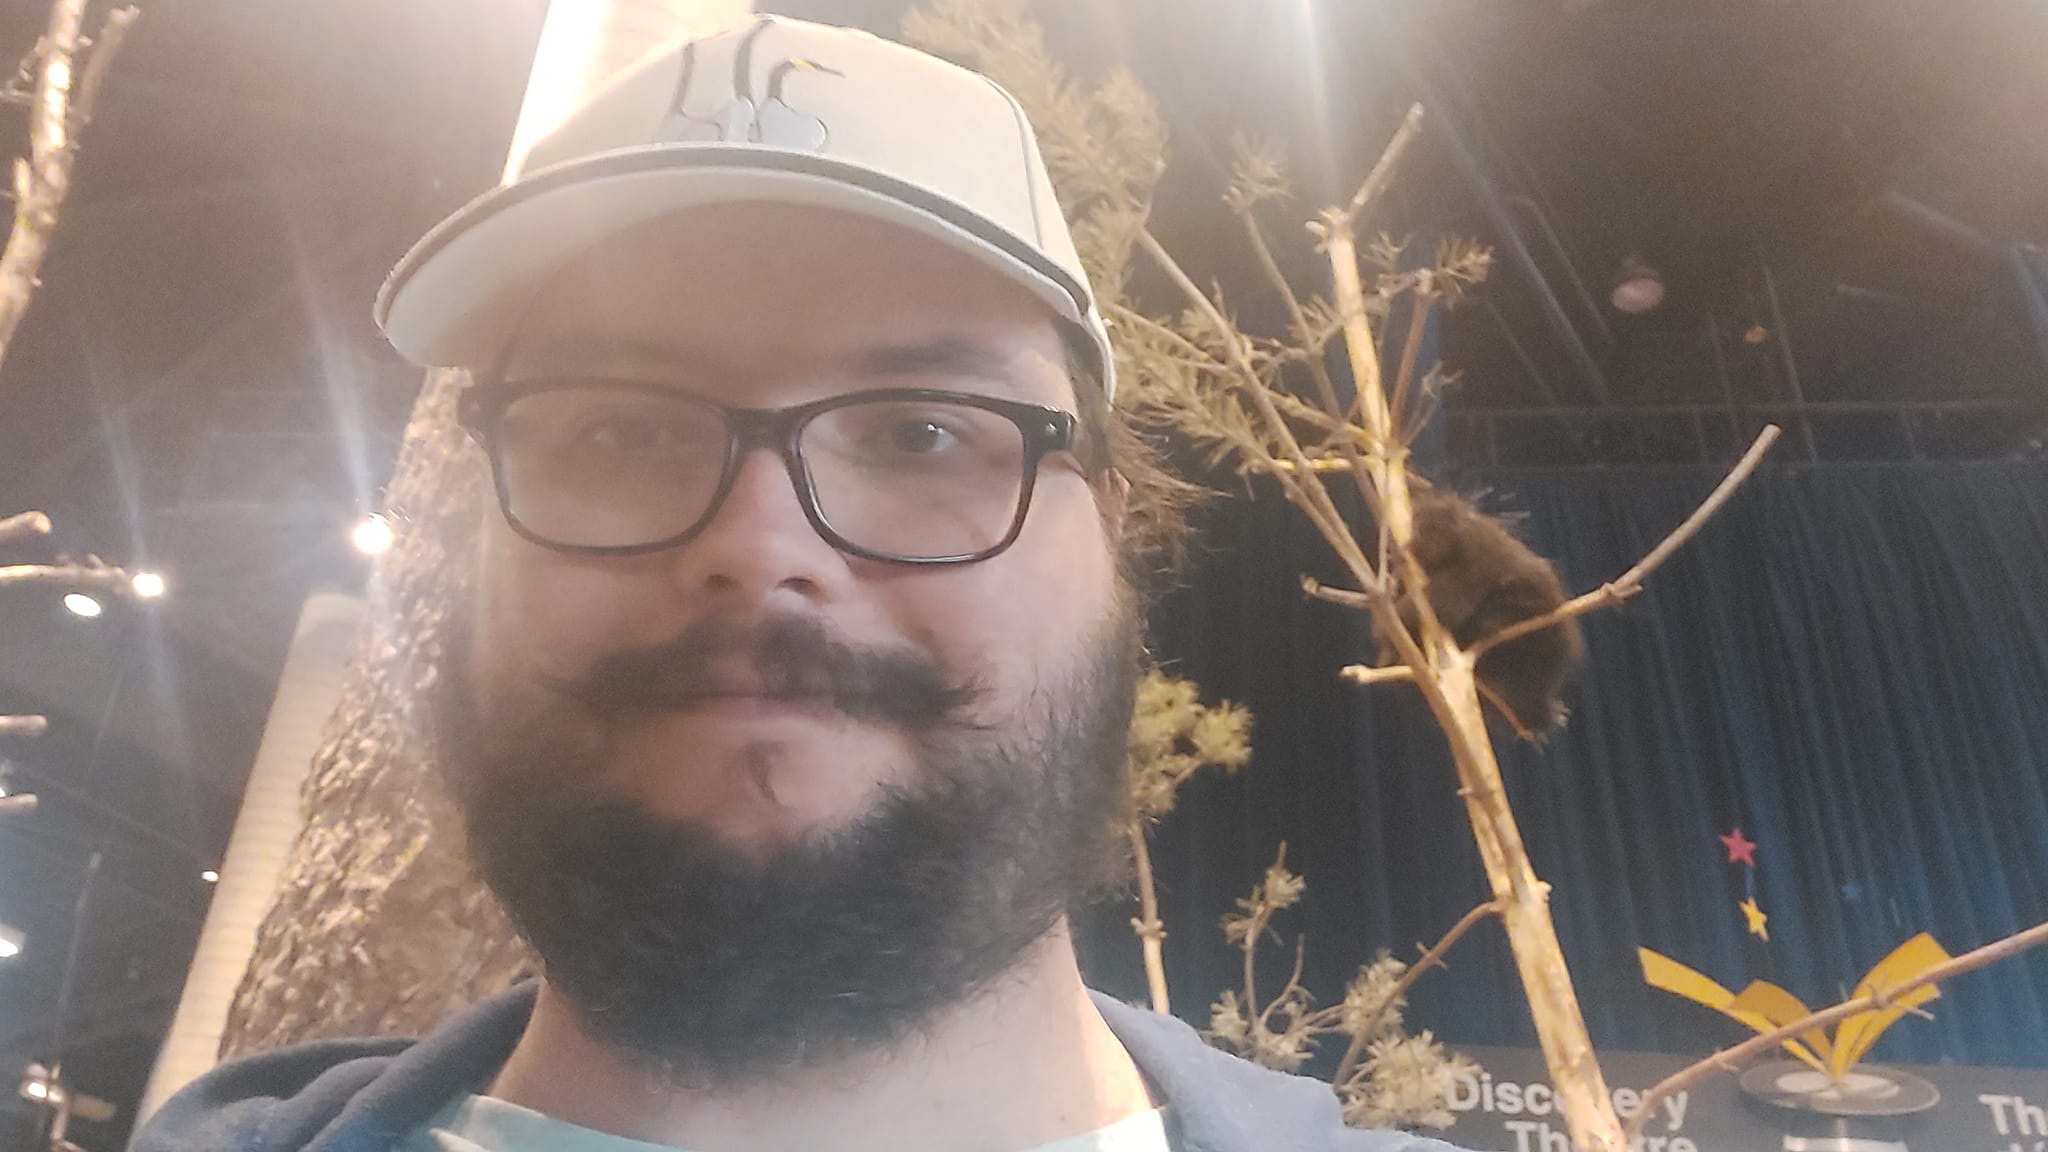
<instances>
[{"instance_id":1,"label":"slender bare-trunked pine with sparse needles, holding the dark furry animal","mask_svg":"<svg viewBox=\"0 0 2048 1152\"><path fill-rule=\"evenodd\" d=\"M1358 193L1309 221L1315 246L1331 271L1333 295L1327 301L1305 299L1294 291L1266 236L1262 211L1282 203L1288 189L1282 158L1274 150L1239 141L1223 205L1257 256L1266 289L1284 303L1288 316L1284 332L1247 332L1237 324L1223 289L1196 285L1149 230L1153 193L1165 170L1165 131L1157 109L1126 72L1114 72L1094 90L1083 90L1051 59L1024 0L934 0L909 16L905 33L913 43L995 78L1036 125L1053 182L1079 223L1087 271L1116 336L1118 404L1180 433L1212 461L1231 463L1243 478L1266 478L1278 486L1343 566L1352 588L1315 582L1305 582L1305 588L1323 601L1370 613L1386 656L1376 668L1348 674L1360 683L1415 685L1458 767L1458 791L1466 799L1473 838L1493 890L1491 900L1466 916L1460 929L1487 916L1503 922L1573 1142L1587 1152L1620 1152L1622 1125L1556 943L1548 886L1530 865L1501 787L1483 709L1479 660L1516 640L1540 640L1536 633L1569 635L1569 642L1552 642L1550 650L1575 656L1575 617L1638 590L1640 578L1683 543L1757 465L1772 435L1761 437L1729 482L1622 580L1573 601L1563 601L1556 590L1556 603L1538 601L1522 619L1489 619L1489 633L1460 637L1446 627L1432 603L1423 560L1432 549L1419 547L1413 498L1427 484L1411 471L1409 441L1436 400L1434 371L1419 363L1427 316L1477 285L1487 273L1489 256L1477 244L1446 242L1427 266L1401 271L1403 244L1380 238L1362 252L1358 242L1360 221L1393 182L1403 154L1421 129L1421 109L1409 111ZM1126 273L1137 256L1178 293L1176 310L1143 307L1130 299ZM1409 322L1397 332L1386 318L1401 297L1407 297ZM1329 367L1329 357L1337 351L1350 369L1343 387ZM1397 365L1393 379L1382 377L1382 359ZM1343 517L1333 484L1356 488L1372 515L1370 535L1356 531ZM1499 531L1499 525L1491 527ZM1544 683L1550 678L1544 676ZM1544 709L1544 715L1550 711ZM1536 734L1526 724L1530 717L1509 719L1516 719L1518 730ZM1241 933L1237 943L1245 949L1247 980L1243 1000L1221 1002L1219 1021L1212 1021L1223 1043L1276 1066L1298 1066L1305 1060L1305 1021L1315 1019L1296 980L1257 1009L1249 978L1251 953L1266 922L1286 906L1290 892L1298 898L1298 881L1290 881L1276 865L1241 916L1231 920L1233 931ZM1456 935L1458 931L1452 933ZM1374 1045L1370 1037L1354 1035L1337 1078L1339 1091L1358 1064L1370 1060L1393 1074L1397 1066L1415 1064L1413 1052L1413 1045ZM1370 1097L1378 1103L1368 1103L1368 1097L1346 1093L1348 1111L1384 1111L1397 1093Z\"/></svg>"}]
</instances>

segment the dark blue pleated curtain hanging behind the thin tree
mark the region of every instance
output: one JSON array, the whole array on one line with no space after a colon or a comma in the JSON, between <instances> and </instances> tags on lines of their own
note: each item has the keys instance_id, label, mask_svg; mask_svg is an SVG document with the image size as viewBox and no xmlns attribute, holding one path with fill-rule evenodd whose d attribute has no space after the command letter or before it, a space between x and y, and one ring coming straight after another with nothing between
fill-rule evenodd
<instances>
[{"instance_id":1,"label":"dark blue pleated curtain hanging behind the thin tree","mask_svg":"<svg viewBox=\"0 0 2048 1152\"><path fill-rule=\"evenodd\" d=\"M1712 488L1706 471L1495 476L1485 504L1573 588L1628 568ZM1204 1021L1237 961L1217 916L1286 840L1323 998L1374 949L1413 955L1487 888L1454 777L1413 691L1339 685L1364 623L1307 603L1339 574L1276 494L1202 515L1155 648L1255 709L1255 760L1198 779L1155 836L1176 1011ZM1587 621L1591 662L1548 746L1505 748L1595 1041L1696 1052L1737 1025L1642 986L1636 947L1731 988L1823 1006L1929 931L1964 951L2048 918L2048 465L1757 476L1628 607ZM1718 836L1741 826L1755 875ZM1753 883L1769 943L1737 902ZM1124 908L1083 918L1090 976L1143 994ZM2048 1066L2048 955L1948 986L1878 1058ZM1425 978L1411 1019L1462 1043L1532 1043L1497 927Z\"/></svg>"}]
</instances>

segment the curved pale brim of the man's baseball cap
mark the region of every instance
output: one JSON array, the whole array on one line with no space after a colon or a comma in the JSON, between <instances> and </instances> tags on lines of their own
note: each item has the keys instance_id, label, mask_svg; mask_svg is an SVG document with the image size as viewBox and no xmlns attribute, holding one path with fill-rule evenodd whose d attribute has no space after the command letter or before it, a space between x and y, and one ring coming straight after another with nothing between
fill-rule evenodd
<instances>
[{"instance_id":1,"label":"curved pale brim of the man's baseball cap","mask_svg":"<svg viewBox=\"0 0 2048 1152\"><path fill-rule=\"evenodd\" d=\"M629 228L733 201L827 207L907 228L1090 326L1087 291L1069 273L965 205L842 160L707 143L590 156L477 197L391 269L377 324L414 363L489 365L541 285L575 254Z\"/></svg>"}]
</instances>

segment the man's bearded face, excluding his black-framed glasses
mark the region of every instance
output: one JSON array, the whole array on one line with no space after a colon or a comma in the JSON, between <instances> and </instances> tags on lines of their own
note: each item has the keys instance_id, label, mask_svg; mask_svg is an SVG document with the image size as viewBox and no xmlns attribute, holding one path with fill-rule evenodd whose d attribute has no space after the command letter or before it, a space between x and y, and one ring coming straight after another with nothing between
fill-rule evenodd
<instances>
[{"instance_id":1,"label":"man's bearded face, excluding his black-framed glasses","mask_svg":"<svg viewBox=\"0 0 2048 1152\"><path fill-rule=\"evenodd\" d=\"M604 377L731 408L924 387L1075 410L1032 295L813 209L700 209L608 242L516 340L512 383ZM1118 510L1108 482L1053 455L1006 551L864 560L756 451L709 525L664 551L565 553L485 517L444 758L551 982L600 1029L641 1021L614 1039L719 1074L887 1039L999 974L1100 879L1135 676ZM815 681L842 683L786 691ZM674 683L688 691L666 697ZM594 939L618 920L614 943ZM842 1004L836 1027L821 1013ZM772 1043L735 1052L758 1035Z\"/></svg>"}]
</instances>

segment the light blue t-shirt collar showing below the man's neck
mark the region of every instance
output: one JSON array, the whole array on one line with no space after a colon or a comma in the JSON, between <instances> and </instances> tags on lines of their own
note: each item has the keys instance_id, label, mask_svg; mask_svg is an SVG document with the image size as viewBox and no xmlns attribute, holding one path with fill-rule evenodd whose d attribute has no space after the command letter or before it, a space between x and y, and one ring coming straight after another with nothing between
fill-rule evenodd
<instances>
[{"instance_id":1,"label":"light blue t-shirt collar showing below the man's neck","mask_svg":"<svg viewBox=\"0 0 2048 1152\"><path fill-rule=\"evenodd\" d=\"M563 1123L492 1097L461 1095L393 1152L676 1152ZM819 1150L829 1152L829 1150ZM1169 1152L1159 1109L1022 1152Z\"/></svg>"}]
</instances>

